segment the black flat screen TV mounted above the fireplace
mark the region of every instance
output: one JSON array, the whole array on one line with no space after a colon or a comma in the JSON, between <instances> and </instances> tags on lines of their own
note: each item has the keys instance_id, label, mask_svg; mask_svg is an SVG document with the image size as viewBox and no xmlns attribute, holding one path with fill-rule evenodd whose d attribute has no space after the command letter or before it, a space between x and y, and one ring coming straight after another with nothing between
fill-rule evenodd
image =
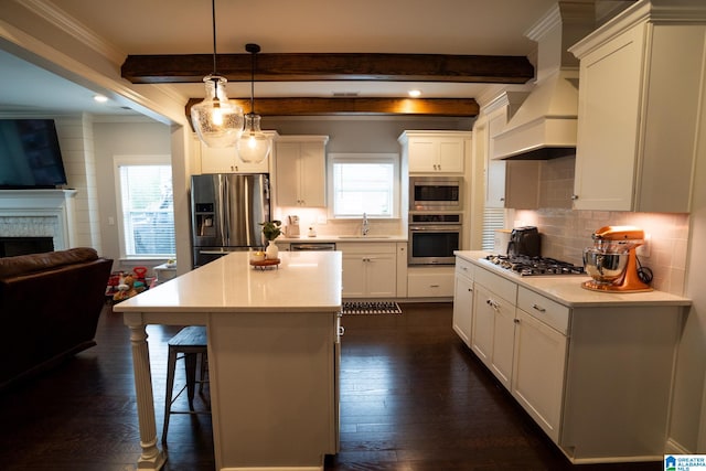
<instances>
[{"instance_id":1,"label":"black flat screen TV mounted above the fireplace","mask_svg":"<svg viewBox=\"0 0 706 471\"><path fill-rule=\"evenodd\" d=\"M0 119L0 189L55 189L66 183L53 119Z\"/></svg>"}]
</instances>

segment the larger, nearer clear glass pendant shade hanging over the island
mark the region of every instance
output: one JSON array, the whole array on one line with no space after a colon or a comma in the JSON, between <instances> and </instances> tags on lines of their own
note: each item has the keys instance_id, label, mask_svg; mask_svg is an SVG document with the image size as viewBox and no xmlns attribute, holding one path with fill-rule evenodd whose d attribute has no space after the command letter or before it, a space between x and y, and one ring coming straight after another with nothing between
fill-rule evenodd
<instances>
[{"instance_id":1,"label":"larger, nearer clear glass pendant shade hanging over the island","mask_svg":"<svg viewBox=\"0 0 706 471\"><path fill-rule=\"evenodd\" d=\"M218 75L203 78L206 97L191 107L191 121L199 139L213 148L235 146L243 133L243 108L228 100L227 79Z\"/></svg>"}]
</instances>

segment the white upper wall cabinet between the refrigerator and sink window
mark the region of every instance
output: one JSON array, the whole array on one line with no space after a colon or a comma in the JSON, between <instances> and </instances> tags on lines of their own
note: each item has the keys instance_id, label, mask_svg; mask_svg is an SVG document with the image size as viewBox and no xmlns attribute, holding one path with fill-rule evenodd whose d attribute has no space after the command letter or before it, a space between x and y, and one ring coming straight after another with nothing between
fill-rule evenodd
<instances>
[{"instance_id":1,"label":"white upper wall cabinet between the refrigerator and sink window","mask_svg":"<svg viewBox=\"0 0 706 471\"><path fill-rule=\"evenodd\" d=\"M278 206L327 205L327 136L280 136L276 141Z\"/></svg>"}]
</instances>

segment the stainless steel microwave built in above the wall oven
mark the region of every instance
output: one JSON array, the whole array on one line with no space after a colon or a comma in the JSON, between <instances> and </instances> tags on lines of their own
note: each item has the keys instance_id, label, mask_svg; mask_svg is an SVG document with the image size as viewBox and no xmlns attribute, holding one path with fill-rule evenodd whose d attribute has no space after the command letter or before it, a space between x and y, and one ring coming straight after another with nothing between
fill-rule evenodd
<instances>
[{"instance_id":1,"label":"stainless steel microwave built in above the wall oven","mask_svg":"<svg viewBox=\"0 0 706 471\"><path fill-rule=\"evenodd\" d=\"M409 176L409 211L460 211L462 176Z\"/></svg>"}]
</instances>

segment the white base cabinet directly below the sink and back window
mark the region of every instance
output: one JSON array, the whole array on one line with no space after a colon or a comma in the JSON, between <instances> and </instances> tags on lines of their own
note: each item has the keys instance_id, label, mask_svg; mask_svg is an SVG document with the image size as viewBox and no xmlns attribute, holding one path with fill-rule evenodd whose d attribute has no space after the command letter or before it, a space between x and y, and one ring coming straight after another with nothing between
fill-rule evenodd
<instances>
[{"instance_id":1,"label":"white base cabinet directly below the sink and back window","mask_svg":"<svg viewBox=\"0 0 706 471\"><path fill-rule=\"evenodd\" d=\"M344 298L397 296L397 244L336 243L343 253Z\"/></svg>"}]
</instances>

